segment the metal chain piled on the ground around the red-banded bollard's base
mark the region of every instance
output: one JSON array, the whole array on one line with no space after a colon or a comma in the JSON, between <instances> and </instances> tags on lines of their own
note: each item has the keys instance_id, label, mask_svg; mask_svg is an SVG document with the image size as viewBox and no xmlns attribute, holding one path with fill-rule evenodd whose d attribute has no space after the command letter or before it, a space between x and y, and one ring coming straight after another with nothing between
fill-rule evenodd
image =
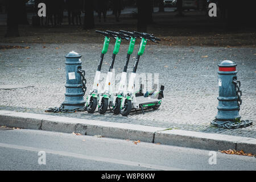
<instances>
[{"instance_id":1,"label":"metal chain piled on the ground around the red-banded bollard's base","mask_svg":"<svg viewBox=\"0 0 256 182\"><path fill-rule=\"evenodd\" d=\"M241 127L247 127L250 125L253 125L253 121L245 120L245 121L239 121L239 122L233 122L233 121L225 121L222 123L217 123L216 119L213 119L212 122L210 122L213 126L217 127L223 127L224 129L238 129Z\"/></svg>"}]
</instances>

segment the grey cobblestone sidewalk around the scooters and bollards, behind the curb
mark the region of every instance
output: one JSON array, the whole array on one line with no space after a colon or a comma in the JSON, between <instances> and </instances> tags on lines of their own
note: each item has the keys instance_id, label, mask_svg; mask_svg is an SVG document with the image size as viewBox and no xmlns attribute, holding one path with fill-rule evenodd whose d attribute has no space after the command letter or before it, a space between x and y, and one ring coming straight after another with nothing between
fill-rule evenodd
<instances>
[{"instance_id":1,"label":"grey cobblestone sidewalk around the scooters and bollards, behind the curb","mask_svg":"<svg viewBox=\"0 0 256 182\"><path fill-rule=\"evenodd\" d=\"M64 56L70 51L82 55L82 68L86 71L87 80L86 94L92 88L101 44L18 44L18 46L30 48L0 49L1 110L52 114L44 113L44 110L59 106L64 101ZM112 48L113 44L110 45L110 51ZM121 46L114 65L116 72L122 72L126 51L127 45ZM108 53L104 57L102 72L108 71L111 56L111 53ZM132 70L134 56L135 53L128 72ZM163 104L158 110L147 110L144 115L141 111L133 112L129 117L113 115L110 111L105 115L98 113L54 115L256 138L255 57L255 48L148 45L141 57L138 73L159 73L159 84L164 85L165 89ZM240 114L242 119L253 121L253 126L235 130L210 126L210 121L217 114L217 64L225 59L238 64L237 77L241 81L243 92ZM13 85L18 86L14 88Z\"/></svg>"}]
</instances>

